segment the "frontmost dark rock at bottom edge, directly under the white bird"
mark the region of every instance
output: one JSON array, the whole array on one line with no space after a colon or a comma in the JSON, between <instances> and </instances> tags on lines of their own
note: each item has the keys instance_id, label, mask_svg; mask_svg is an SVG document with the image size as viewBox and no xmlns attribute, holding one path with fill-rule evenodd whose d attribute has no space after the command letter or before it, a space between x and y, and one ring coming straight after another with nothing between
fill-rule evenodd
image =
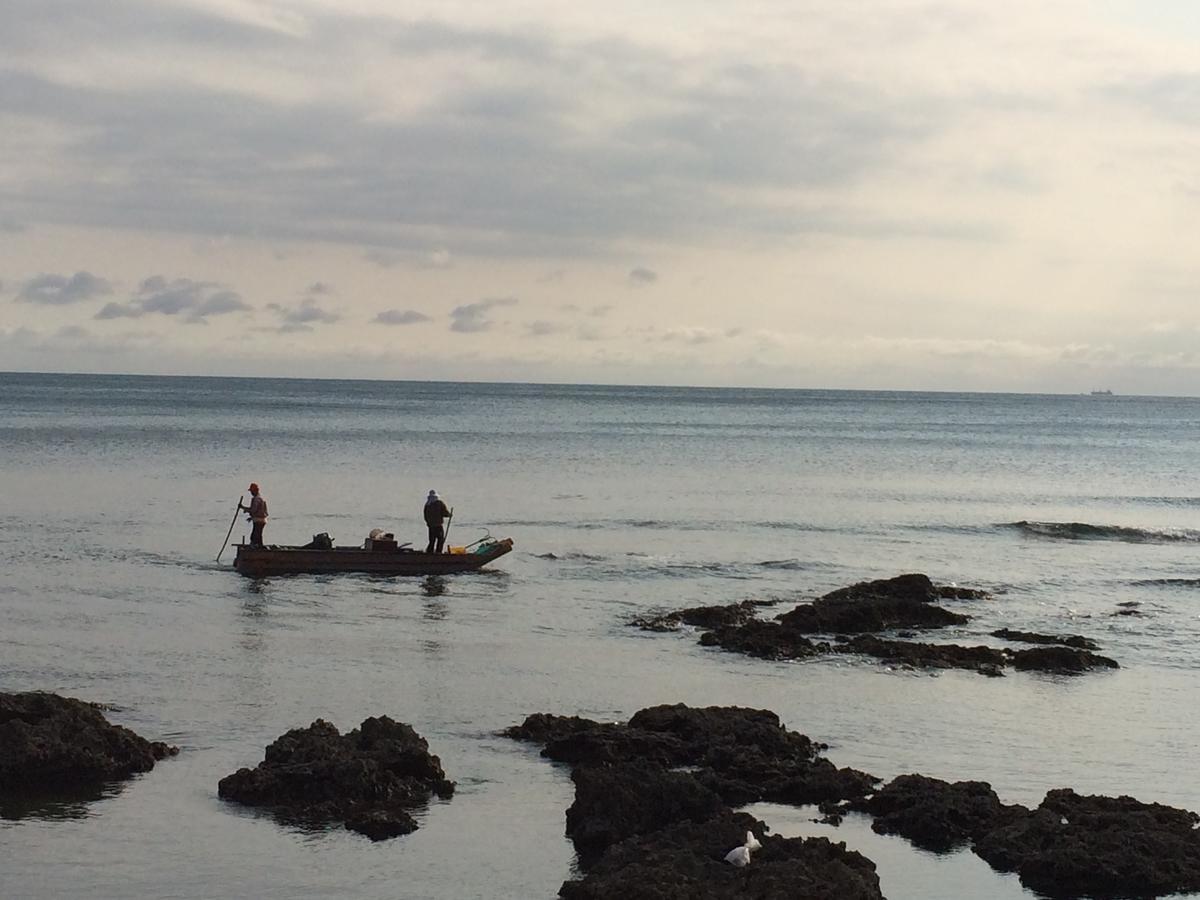
<instances>
[{"instance_id":1,"label":"frontmost dark rock at bottom edge, directly under the white bird","mask_svg":"<svg viewBox=\"0 0 1200 900\"><path fill-rule=\"evenodd\" d=\"M762 848L737 869L725 854L754 832ZM682 822L612 847L566 900L882 900L875 864L824 838L767 836L746 814Z\"/></svg>"}]
</instances>

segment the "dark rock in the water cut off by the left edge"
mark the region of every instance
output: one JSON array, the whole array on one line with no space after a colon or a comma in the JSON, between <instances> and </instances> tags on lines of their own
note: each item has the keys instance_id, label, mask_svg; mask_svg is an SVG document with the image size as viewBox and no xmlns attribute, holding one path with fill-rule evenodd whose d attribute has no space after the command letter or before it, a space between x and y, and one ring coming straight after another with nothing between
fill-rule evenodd
<instances>
[{"instance_id":1,"label":"dark rock in the water cut off by the left edge","mask_svg":"<svg viewBox=\"0 0 1200 900\"><path fill-rule=\"evenodd\" d=\"M109 724L82 700L0 692L0 792L28 794L128 778L176 752Z\"/></svg>"}]
</instances>

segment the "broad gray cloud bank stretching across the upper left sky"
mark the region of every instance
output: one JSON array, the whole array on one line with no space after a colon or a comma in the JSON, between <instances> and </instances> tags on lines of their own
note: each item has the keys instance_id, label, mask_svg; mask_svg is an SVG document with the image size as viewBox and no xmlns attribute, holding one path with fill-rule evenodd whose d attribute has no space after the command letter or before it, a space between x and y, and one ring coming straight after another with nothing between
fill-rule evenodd
<instances>
[{"instance_id":1,"label":"broad gray cloud bank stretching across the upper left sky","mask_svg":"<svg viewBox=\"0 0 1200 900\"><path fill-rule=\"evenodd\" d=\"M773 198L889 166L937 128L944 112L934 104L815 79L802 64L722 62L616 38L318 14L306 24L294 36L150 0L10 0L0 55L25 62L4 74L0 116L66 139L53 178L25 179L7 205L53 222L407 252L428 252L437 232L504 254L726 229L960 227L864 222L827 202ZM194 79L64 83L36 62L76 44L131 58L220 50L292 78L311 78L296 60L362 47L462 66L454 86L396 115L316 82L304 98L276 102ZM628 112L594 128L586 104L605 95Z\"/></svg>"}]
</instances>

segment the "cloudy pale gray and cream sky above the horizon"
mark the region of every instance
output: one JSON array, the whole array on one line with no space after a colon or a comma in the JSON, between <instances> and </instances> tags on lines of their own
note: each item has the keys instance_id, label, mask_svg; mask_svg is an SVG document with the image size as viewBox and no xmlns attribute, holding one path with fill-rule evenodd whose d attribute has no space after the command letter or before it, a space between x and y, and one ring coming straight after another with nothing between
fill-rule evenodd
<instances>
[{"instance_id":1,"label":"cloudy pale gray and cream sky above the horizon","mask_svg":"<svg viewBox=\"0 0 1200 900\"><path fill-rule=\"evenodd\" d=\"M1192 0L4 0L0 371L1200 395Z\"/></svg>"}]
</instances>

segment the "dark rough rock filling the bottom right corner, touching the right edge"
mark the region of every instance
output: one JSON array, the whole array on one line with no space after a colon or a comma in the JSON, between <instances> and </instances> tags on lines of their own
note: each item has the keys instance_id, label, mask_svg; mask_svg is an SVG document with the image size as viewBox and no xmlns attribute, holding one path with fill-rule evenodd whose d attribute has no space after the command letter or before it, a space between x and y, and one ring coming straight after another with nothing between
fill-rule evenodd
<instances>
[{"instance_id":1,"label":"dark rough rock filling the bottom right corner, touching the right edge","mask_svg":"<svg viewBox=\"0 0 1200 900\"><path fill-rule=\"evenodd\" d=\"M974 851L1055 898L1148 898L1200 890L1200 816L1130 797L1051 791Z\"/></svg>"}]
</instances>

